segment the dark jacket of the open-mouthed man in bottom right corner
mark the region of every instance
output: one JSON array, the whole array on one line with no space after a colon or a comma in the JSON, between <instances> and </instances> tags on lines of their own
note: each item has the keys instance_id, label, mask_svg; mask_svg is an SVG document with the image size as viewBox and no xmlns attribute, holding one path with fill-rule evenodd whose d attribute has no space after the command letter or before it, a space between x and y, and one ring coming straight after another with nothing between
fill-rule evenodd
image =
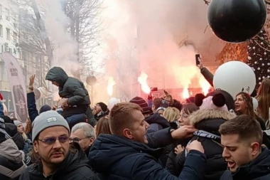
<instances>
[{"instance_id":1,"label":"dark jacket of the open-mouthed man in bottom right corner","mask_svg":"<svg viewBox=\"0 0 270 180\"><path fill-rule=\"evenodd\" d=\"M239 166L236 172L227 170L220 180L269 180L270 179L270 151L262 147L261 154L247 165Z\"/></svg>"}]
</instances>

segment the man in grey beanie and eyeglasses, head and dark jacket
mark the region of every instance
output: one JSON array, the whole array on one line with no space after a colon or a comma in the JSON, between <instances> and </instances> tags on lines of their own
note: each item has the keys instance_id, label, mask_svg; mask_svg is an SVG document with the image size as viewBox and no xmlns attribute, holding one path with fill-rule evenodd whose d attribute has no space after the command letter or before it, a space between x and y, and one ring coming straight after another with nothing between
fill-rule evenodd
<instances>
[{"instance_id":1,"label":"man in grey beanie and eyeglasses, head and dark jacket","mask_svg":"<svg viewBox=\"0 0 270 180\"><path fill-rule=\"evenodd\" d=\"M20 179L98 179L80 149L71 149L68 122L55 111L43 112L33 121L33 153L37 162Z\"/></svg>"}]
</instances>

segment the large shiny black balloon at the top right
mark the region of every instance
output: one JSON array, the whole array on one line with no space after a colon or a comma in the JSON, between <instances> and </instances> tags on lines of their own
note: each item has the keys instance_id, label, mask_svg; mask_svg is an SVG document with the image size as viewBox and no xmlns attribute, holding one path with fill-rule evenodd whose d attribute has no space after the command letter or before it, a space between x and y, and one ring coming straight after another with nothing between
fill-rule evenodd
<instances>
[{"instance_id":1,"label":"large shiny black balloon at the top right","mask_svg":"<svg viewBox=\"0 0 270 180\"><path fill-rule=\"evenodd\" d=\"M229 43L241 43L261 31L266 21L264 0L212 0L207 12L213 33Z\"/></svg>"}]
</instances>

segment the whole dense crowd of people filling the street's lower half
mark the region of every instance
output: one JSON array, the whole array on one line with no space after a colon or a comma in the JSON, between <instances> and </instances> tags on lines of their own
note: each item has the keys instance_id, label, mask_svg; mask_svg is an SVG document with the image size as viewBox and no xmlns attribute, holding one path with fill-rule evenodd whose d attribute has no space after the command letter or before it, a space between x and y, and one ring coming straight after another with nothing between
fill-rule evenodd
<instances>
[{"instance_id":1,"label":"whole dense crowd of people filling the street's lower half","mask_svg":"<svg viewBox=\"0 0 270 180\"><path fill-rule=\"evenodd\" d=\"M269 78L253 94L256 110L253 95L224 90L185 102L150 93L109 110L104 102L91 107L84 84L62 68L45 79L58 86L59 105L37 110L31 76L25 127L0 102L1 180L270 179Z\"/></svg>"}]
</instances>

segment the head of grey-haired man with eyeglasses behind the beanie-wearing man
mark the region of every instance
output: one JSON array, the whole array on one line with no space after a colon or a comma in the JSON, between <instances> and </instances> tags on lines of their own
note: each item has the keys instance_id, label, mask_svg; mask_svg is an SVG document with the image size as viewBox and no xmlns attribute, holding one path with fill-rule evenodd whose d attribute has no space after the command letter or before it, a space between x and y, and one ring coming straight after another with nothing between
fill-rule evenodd
<instances>
[{"instance_id":1,"label":"head of grey-haired man with eyeglasses behind the beanie-wearing man","mask_svg":"<svg viewBox=\"0 0 270 180\"><path fill-rule=\"evenodd\" d=\"M71 129L70 143L75 142L79 144L87 156L95 139L94 127L86 122L80 122Z\"/></svg>"}]
</instances>

